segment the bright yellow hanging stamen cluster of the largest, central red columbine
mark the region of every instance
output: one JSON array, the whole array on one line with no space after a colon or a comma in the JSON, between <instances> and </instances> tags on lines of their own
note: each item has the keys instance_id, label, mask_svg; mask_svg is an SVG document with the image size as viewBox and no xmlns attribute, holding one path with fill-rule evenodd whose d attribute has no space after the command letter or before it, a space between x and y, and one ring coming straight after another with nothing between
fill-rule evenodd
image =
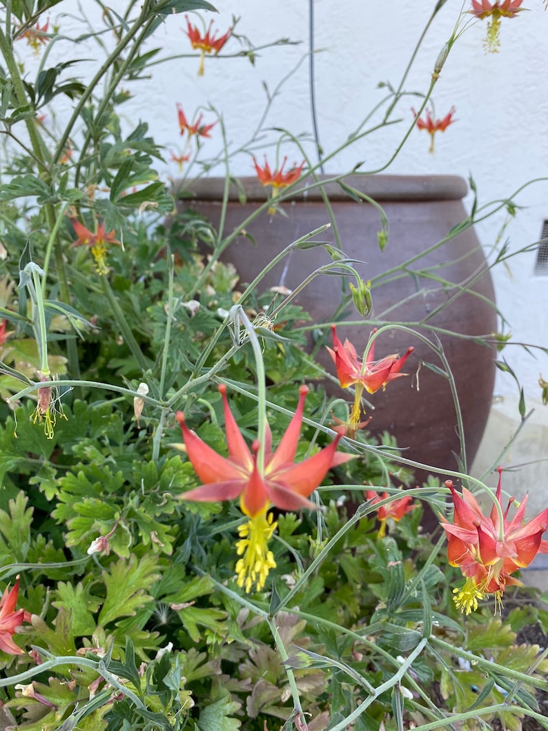
<instances>
[{"instance_id":1,"label":"bright yellow hanging stamen cluster of the largest, central red columbine","mask_svg":"<svg viewBox=\"0 0 548 731\"><path fill-rule=\"evenodd\" d=\"M236 543L236 551L242 558L236 564L237 585L245 588L246 594L253 586L256 586L256 591L261 591L270 569L276 567L274 555L267 544L277 526L272 513L260 512L238 528L240 540Z\"/></svg>"}]
</instances>

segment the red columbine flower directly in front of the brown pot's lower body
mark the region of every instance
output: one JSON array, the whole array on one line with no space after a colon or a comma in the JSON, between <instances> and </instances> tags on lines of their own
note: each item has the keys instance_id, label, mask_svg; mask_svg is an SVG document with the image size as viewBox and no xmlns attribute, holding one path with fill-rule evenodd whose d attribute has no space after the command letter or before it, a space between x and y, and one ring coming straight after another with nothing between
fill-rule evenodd
<instances>
[{"instance_id":1,"label":"red columbine flower directly in front of the brown pot's lower body","mask_svg":"<svg viewBox=\"0 0 548 731\"><path fill-rule=\"evenodd\" d=\"M331 325L333 333L333 348L327 348L335 362L337 368L337 377L343 388L349 386L355 387L354 408L350 415L349 425L356 428L359 423L360 404L362 393L365 389L368 393L375 393L379 388L386 387L387 383L393 381L400 376L406 376L400 373L409 355L414 351L413 347L407 349L406 355L399 357L397 355L386 355L381 360L375 362L375 341L370 345L367 358L362 363L357 357L356 349L349 340L344 341L344 345L337 337L337 328ZM373 330L373 332L376 332Z\"/></svg>"}]
</instances>

